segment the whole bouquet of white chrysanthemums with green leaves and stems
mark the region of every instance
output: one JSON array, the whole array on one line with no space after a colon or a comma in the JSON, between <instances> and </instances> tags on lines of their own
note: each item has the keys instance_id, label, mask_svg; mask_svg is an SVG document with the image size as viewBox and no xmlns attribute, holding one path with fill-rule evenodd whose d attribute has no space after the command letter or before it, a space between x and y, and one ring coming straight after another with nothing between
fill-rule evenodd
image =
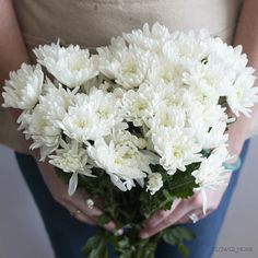
<instances>
[{"instance_id":1,"label":"whole bouquet of white chrysanthemums with green leaves and stems","mask_svg":"<svg viewBox=\"0 0 258 258\"><path fill-rule=\"evenodd\" d=\"M126 226L122 235L99 227L86 257L107 257L109 243L119 257L151 258L160 238L183 250L191 237L185 228L140 241L141 224L175 198L201 190L204 201L206 189L224 184L227 125L258 101L254 69L241 46L160 24L96 51L39 46L38 64L10 73L3 106L22 109L19 129L58 168L69 195L80 186L102 199L99 225Z\"/></svg>"}]
</instances>

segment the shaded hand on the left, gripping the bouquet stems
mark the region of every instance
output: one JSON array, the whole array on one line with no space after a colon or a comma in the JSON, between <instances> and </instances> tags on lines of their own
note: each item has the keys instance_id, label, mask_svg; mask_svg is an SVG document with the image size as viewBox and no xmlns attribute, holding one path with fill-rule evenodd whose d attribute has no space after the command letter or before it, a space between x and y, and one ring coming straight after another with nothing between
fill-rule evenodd
<instances>
[{"instance_id":1,"label":"shaded hand on the left, gripping the bouquet stems","mask_svg":"<svg viewBox=\"0 0 258 258\"><path fill-rule=\"evenodd\" d=\"M68 195L68 185L57 176L54 166L47 162L39 162L37 157L38 156L36 155L35 160L38 168L40 169L42 176L52 195L52 198L63 206L77 220L95 225L97 216L103 213L96 206L97 201L94 201L94 206L91 209L86 203L89 195L82 188L78 188L74 195L70 197ZM113 231L115 228L115 223L109 222L105 225L105 228Z\"/></svg>"}]
</instances>

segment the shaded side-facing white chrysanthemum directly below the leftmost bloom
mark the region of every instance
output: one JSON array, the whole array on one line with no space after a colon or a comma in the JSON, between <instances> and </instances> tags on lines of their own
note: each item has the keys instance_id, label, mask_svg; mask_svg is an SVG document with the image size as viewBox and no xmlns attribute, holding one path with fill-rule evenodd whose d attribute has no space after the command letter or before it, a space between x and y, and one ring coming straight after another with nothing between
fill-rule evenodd
<instances>
[{"instance_id":1,"label":"shaded side-facing white chrysanthemum directly below the leftmost bloom","mask_svg":"<svg viewBox=\"0 0 258 258\"><path fill-rule=\"evenodd\" d=\"M46 116L46 108L38 104L27 119L24 133L33 139L32 150L40 148L40 160L55 151L60 141L61 130Z\"/></svg>"}]
</instances>

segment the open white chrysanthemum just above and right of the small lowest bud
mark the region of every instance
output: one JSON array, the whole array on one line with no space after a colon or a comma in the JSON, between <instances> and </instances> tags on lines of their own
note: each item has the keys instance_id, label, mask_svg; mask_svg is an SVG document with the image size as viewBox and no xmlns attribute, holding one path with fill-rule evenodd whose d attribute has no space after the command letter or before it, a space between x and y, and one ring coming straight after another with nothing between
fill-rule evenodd
<instances>
[{"instance_id":1,"label":"open white chrysanthemum just above and right of the small lowest bud","mask_svg":"<svg viewBox=\"0 0 258 258\"><path fill-rule=\"evenodd\" d=\"M192 131L173 129L166 133L152 133L155 151L161 155L160 163L173 175L177 169L186 171L186 166L201 161L201 145L197 143Z\"/></svg>"}]
</instances>

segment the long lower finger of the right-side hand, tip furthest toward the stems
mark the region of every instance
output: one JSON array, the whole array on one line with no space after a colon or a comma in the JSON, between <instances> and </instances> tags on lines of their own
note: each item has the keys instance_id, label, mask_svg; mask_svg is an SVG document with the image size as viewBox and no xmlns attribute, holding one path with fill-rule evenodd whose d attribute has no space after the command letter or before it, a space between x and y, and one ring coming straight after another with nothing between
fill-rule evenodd
<instances>
[{"instance_id":1,"label":"long lower finger of the right-side hand, tip furthest toward the stems","mask_svg":"<svg viewBox=\"0 0 258 258\"><path fill-rule=\"evenodd\" d=\"M185 216L191 210L192 210L192 207L189 206L189 202L181 201L175 208L175 210L165 220L163 220L161 223L159 223L154 227L144 228L140 233L140 237L144 239L144 238L148 238L150 236L155 235L156 233L163 231L167 226L173 225L175 222L177 222L179 219Z\"/></svg>"}]
</instances>

